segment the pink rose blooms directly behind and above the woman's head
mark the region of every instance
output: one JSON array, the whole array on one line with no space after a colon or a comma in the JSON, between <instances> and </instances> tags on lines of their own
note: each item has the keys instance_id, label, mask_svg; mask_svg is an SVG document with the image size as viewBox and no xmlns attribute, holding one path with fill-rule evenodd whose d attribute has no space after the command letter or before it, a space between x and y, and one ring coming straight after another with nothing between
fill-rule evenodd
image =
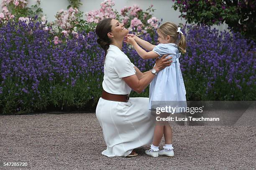
<instances>
[{"instance_id":1,"label":"pink rose blooms directly behind and above the woman's head","mask_svg":"<svg viewBox=\"0 0 256 170\"><path fill-rule=\"evenodd\" d=\"M136 35L141 32L148 32L153 36L154 29L158 28L159 20L156 17L152 17L154 9L153 5L150 5L146 11L143 11L138 5L132 7L123 7L120 11L113 10L115 3L113 0L105 0L101 3L100 10L92 10L86 14L87 22L94 25L92 30L95 29L96 25L100 20L104 18L114 18L125 24L125 27L129 31L133 31Z\"/></svg>"}]
</instances>

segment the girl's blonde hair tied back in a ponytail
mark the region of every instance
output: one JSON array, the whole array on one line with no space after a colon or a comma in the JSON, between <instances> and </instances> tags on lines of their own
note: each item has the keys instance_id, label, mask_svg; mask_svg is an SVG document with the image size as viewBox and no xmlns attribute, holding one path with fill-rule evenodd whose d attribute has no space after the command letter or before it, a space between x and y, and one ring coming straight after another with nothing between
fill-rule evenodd
<instances>
[{"instance_id":1,"label":"girl's blonde hair tied back in a ponytail","mask_svg":"<svg viewBox=\"0 0 256 170\"><path fill-rule=\"evenodd\" d=\"M159 33L161 33L162 35L166 36L169 35L170 37L173 38L173 40L176 42L179 36L179 32L177 32L178 27L176 24L168 22L168 23L164 23L163 25L161 25L157 31ZM186 48L187 48L187 42L186 42L186 37L183 34L180 34L180 40L178 42L178 47L179 50L182 53L186 53Z\"/></svg>"}]
</instances>

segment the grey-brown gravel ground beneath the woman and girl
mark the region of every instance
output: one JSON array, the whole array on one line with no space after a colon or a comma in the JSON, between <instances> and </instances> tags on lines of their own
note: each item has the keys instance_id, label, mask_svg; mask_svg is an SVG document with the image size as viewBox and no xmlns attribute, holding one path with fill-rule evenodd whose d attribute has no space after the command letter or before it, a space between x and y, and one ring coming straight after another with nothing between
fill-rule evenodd
<instances>
[{"instance_id":1,"label":"grey-brown gravel ground beneath the woman and girl","mask_svg":"<svg viewBox=\"0 0 256 170\"><path fill-rule=\"evenodd\" d=\"M255 170L255 126L174 126L174 158L108 158L95 113L0 116L0 169ZM163 140L160 145L163 145ZM26 168L3 162L27 162Z\"/></svg>"}]
</instances>

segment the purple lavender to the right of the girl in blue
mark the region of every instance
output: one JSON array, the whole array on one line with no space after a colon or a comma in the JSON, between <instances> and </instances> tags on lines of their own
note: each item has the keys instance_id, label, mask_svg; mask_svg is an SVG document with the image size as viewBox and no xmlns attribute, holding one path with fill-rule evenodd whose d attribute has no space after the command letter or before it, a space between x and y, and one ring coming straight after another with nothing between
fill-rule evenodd
<instances>
[{"instance_id":1,"label":"purple lavender to the right of the girl in blue","mask_svg":"<svg viewBox=\"0 0 256 170\"><path fill-rule=\"evenodd\" d=\"M180 62L189 100L255 100L256 45L240 33L187 26Z\"/></svg>"}]
</instances>

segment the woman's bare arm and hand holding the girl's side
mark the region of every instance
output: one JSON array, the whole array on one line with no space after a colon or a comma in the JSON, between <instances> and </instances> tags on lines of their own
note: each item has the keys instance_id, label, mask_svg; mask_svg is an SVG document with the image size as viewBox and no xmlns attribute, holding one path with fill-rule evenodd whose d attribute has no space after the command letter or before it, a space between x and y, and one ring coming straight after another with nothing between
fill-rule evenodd
<instances>
[{"instance_id":1,"label":"woman's bare arm and hand holding the girl's side","mask_svg":"<svg viewBox=\"0 0 256 170\"><path fill-rule=\"evenodd\" d=\"M165 57L166 55L161 57L161 59L159 58L156 59L156 65L154 66L154 69L156 70L156 72L159 72L165 67L171 65L172 61L168 61L168 60L170 60L172 57L168 57L168 58L165 58ZM136 70L136 75L123 77L123 80L134 91L141 93L149 85L149 83L154 79L154 77L155 75L151 73L151 70L144 73L142 73L141 71L137 73L137 70Z\"/></svg>"}]
</instances>

